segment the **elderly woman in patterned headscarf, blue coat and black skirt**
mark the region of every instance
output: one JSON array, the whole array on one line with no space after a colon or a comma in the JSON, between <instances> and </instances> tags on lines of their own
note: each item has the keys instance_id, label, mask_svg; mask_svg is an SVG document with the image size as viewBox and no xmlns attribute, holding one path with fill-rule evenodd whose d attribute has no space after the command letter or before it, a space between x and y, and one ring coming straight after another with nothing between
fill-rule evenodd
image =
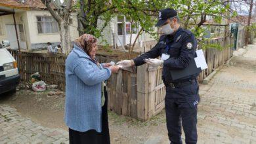
<instances>
[{"instance_id":1,"label":"elderly woman in patterned headscarf, blue coat and black skirt","mask_svg":"<svg viewBox=\"0 0 256 144\"><path fill-rule=\"evenodd\" d=\"M70 143L110 143L103 82L119 67L97 62L96 41L93 35L82 35L66 59L65 122Z\"/></svg>"}]
</instances>

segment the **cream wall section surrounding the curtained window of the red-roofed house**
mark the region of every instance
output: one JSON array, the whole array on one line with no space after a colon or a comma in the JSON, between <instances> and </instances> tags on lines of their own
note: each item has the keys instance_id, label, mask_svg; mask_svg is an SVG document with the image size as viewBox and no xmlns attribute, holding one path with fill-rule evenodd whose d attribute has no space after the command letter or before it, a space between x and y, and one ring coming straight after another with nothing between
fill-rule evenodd
<instances>
[{"instance_id":1,"label":"cream wall section surrounding the curtained window of the red-roofed house","mask_svg":"<svg viewBox=\"0 0 256 144\"><path fill-rule=\"evenodd\" d=\"M74 17L75 15L75 12L73 12L73 23L70 26L71 41L74 41L79 36L77 31L77 18ZM47 42L51 42L53 43L53 45L57 45L57 43L60 43L59 33L38 33L37 16L51 16L51 14L47 10L30 10L26 12L28 27L30 27L28 31L30 35L30 48L37 49L46 47Z\"/></svg>"}]
</instances>

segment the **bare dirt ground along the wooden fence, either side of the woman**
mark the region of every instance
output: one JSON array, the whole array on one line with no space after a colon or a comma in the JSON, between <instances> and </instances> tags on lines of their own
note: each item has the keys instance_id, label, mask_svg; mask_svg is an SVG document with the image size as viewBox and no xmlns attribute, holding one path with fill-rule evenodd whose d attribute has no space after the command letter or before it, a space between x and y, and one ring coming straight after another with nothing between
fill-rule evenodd
<instances>
[{"instance_id":1,"label":"bare dirt ground along the wooden fence, either side of the woman","mask_svg":"<svg viewBox=\"0 0 256 144\"><path fill-rule=\"evenodd\" d=\"M49 93L55 94L49 96ZM22 117L31 118L33 122L49 128L68 130L64 124L64 103L64 92L57 89L33 92L25 88L16 94L0 97L0 104L14 107ZM109 111L108 117L112 143L144 143L148 137L156 134L167 136L164 111L147 122L119 116L112 111Z\"/></svg>"}]
</instances>

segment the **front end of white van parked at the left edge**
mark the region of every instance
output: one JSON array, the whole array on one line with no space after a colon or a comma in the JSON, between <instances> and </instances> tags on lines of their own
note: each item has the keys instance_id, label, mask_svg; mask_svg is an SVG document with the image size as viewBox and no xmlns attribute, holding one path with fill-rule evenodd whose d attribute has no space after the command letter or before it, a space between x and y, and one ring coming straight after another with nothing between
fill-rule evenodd
<instances>
[{"instance_id":1,"label":"front end of white van parked at the left edge","mask_svg":"<svg viewBox=\"0 0 256 144\"><path fill-rule=\"evenodd\" d=\"M7 46L10 46L9 41L0 43L0 94L16 92L16 86L20 82L17 62L5 48Z\"/></svg>"}]
</instances>

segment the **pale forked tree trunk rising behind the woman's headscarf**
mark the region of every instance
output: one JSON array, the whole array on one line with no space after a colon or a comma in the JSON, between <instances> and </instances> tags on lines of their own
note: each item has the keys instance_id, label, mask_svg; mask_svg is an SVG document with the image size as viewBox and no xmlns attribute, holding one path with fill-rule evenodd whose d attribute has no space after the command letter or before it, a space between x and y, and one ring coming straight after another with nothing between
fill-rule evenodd
<instances>
[{"instance_id":1,"label":"pale forked tree trunk rising behind the woman's headscarf","mask_svg":"<svg viewBox=\"0 0 256 144\"><path fill-rule=\"evenodd\" d=\"M64 3L61 3L60 0L41 1L58 23L62 53L68 54L71 50L70 13L72 12L73 0L66 0Z\"/></svg>"}]
</instances>

